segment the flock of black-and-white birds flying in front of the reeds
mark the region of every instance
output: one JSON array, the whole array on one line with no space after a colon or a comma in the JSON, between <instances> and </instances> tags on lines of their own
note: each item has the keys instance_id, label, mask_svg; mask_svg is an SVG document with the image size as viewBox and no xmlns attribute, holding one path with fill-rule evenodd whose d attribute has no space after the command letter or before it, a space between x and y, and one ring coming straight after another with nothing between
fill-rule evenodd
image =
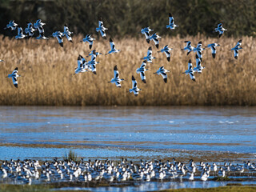
<instances>
[{"instance_id":1,"label":"flock of black-and-white birds flying in front of the reeds","mask_svg":"<svg viewBox=\"0 0 256 192\"><path fill-rule=\"evenodd\" d=\"M16 24L13 21L10 21L7 25L5 29L10 28L10 30L16 30L16 28L18 29L18 34L15 36L16 39L21 39L21 38L31 38L34 36L34 32L36 30L38 30L38 37L36 39L49 39L46 38L44 35L44 29L43 26L46 25L46 23L43 23L41 21L41 19L38 19L37 22L34 23L34 25L31 22L27 22L27 27L25 29L25 34L23 34L23 30L21 26L18 26L18 24ZM34 27L33 27L34 26ZM172 14L169 14L169 24L166 26L167 29L170 30L174 30L175 27L177 27L177 25L174 24L174 18L172 16ZM102 35L102 38L106 39L106 30L108 30L106 27L103 26L103 22L102 22L102 18L98 21L98 27L96 28L97 32L100 32L100 34ZM214 29L215 32L218 32L218 37L220 38L222 36L222 34L224 34L224 31L226 29L223 28L222 23L219 23L217 28ZM146 37L146 42L150 43L151 40L153 40L156 48L158 49L159 47L159 39L161 38L160 36L158 36L157 33L154 34L150 34L152 33L153 30L150 29L150 26L143 28L141 30L142 34L145 34ZM64 26L64 31L55 31L52 34L52 37L55 37L58 39L58 43L60 46L63 47L63 37L66 36L66 38L68 39L69 42L72 42L72 38L71 38L71 34L73 34L72 32L70 32L68 26ZM86 37L82 39L81 42L89 42L89 48L91 49L93 46L93 43L95 41L95 38L91 37L91 34L86 34ZM238 43L236 44L236 46L234 46L234 48L230 49L234 51L234 58L238 58L238 50L241 50L242 44L242 40L239 40ZM218 43L211 43L208 46L206 46L205 48L211 48L211 53L213 58L215 58L216 56L216 49L217 47L220 46ZM182 49L182 50L186 50L187 51L187 55L190 54L191 51L196 53L196 66L193 68L192 66L192 62L191 59L188 62L188 70L186 70L183 74L189 74L191 80L193 80L194 82L195 77L194 77L194 73L198 73L201 74L202 70L205 68L204 66L202 66L202 51L205 50L205 48L202 48L202 42L198 42L198 46L194 47L191 46L191 42L190 41L186 41L186 46ZM158 52L162 52L164 54L166 54L166 58L167 61L170 62L170 50L173 50L172 48L170 48L168 45L164 46L160 51ZM114 53L118 53L121 50L116 49L114 42L112 40L112 38L110 38L110 51L106 54L114 54ZM79 54L78 56L78 67L75 68L74 70L74 74L79 74L79 73L83 73L86 71L91 71L94 74L96 73L96 65L98 64L98 62L96 62L96 58L99 54L96 50L92 50L91 53L86 56L86 57L91 57L90 61L87 62L86 58L83 58L82 55ZM140 77L142 78L142 82L146 83L146 71L148 69L146 69L146 63L150 62L152 63L153 59L155 57L153 57L152 55L152 47L150 46L148 51L147 51L147 55L146 57L143 57L143 62L142 65L136 70L137 74L140 74ZM3 60L0 60L1 62L4 62ZM161 74L162 78L164 80L164 82L167 82L167 72L170 72L170 70L166 70L164 68L164 66L161 66L159 68L159 70L157 70L154 74ZM14 86L16 88L18 88L18 77L21 77L21 75L18 75L18 67L16 67L14 69L14 71L12 72L12 74L8 74L7 76L8 78L12 78ZM6 77L6 78L7 78ZM117 87L121 87L121 82L124 81L123 78L119 78L119 72L118 72L118 66L114 66L114 78L112 78L110 80L111 83L114 83ZM132 88L129 90L130 93L134 93L135 96L138 96L138 92L141 89L138 88L138 83L134 78L134 75L132 75Z\"/></svg>"}]
</instances>

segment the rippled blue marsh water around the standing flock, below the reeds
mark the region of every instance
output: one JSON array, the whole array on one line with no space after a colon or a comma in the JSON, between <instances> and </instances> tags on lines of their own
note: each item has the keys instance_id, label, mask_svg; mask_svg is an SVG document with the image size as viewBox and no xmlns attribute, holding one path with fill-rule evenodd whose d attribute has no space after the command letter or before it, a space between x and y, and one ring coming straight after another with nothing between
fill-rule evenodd
<instances>
[{"instance_id":1,"label":"rippled blue marsh water around the standing flock, below the reeds","mask_svg":"<svg viewBox=\"0 0 256 192\"><path fill-rule=\"evenodd\" d=\"M0 160L62 159L70 149L85 160L255 161L256 108L0 106ZM143 185L193 187L191 182L176 184Z\"/></svg>"}]
</instances>

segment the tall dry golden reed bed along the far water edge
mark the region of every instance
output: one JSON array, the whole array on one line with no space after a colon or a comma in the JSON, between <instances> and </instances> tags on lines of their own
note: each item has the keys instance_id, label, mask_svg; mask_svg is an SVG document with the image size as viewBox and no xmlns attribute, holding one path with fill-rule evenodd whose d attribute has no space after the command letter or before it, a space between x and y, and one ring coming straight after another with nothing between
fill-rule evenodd
<instances>
[{"instance_id":1,"label":"tall dry golden reed bed along the far water edge","mask_svg":"<svg viewBox=\"0 0 256 192\"><path fill-rule=\"evenodd\" d=\"M3 38L3 37L0 37ZM108 40L99 38L94 42L93 49L102 52L97 60L97 75L86 72L74 74L78 54L84 57L90 52L88 44L79 42L82 36L74 37L74 43L64 39L64 48L58 45L57 39L38 41L35 39L15 40L3 38L0 41L1 62L0 105L47 105L47 106L255 106L256 105L256 47L255 39L242 37L243 49L239 51L238 60L234 59L234 47L237 38L206 38L197 37L166 37L160 39L160 47L169 45L170 62L166 55L157 53L153 42L146 43L145 38L114 39L118 54L105 55L110 50ZM195 66L195 54L188 56L181 48L185 40L194 46L202 41L203 46L218 42L216 58L212 58L210 49L203 52L202 66L206 69L202 74L195 74L196 82L189 75L182 74L187 69L191 58ZM153 48L154 63L146 68L146 84L136 74L141 66L140 58L146 56L149 46ZM122 88L108 83L113 78L113 68L118 66L120 78L125 78ZM18 66L18 89L10 78L5 78ZM165 66L168 82L153 74L160 66ZM131 76L138 81L138 97L130 94Z\"/></svg>"}]
</instances>

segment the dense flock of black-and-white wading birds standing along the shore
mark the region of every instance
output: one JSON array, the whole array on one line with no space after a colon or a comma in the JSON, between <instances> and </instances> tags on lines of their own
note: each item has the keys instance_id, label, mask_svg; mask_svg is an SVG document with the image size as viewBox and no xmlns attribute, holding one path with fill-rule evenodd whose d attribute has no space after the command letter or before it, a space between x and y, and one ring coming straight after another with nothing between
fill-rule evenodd
<instances>
[{"instance_id":1,"label":"dense flock of black-and-white wading birds standing along the shore","mask_svg":"<svg viewBox=\"0 0 256 192\"><path fill-rule=\"evenodd\" d=\"M246 173L247 172L247 173ZM122 158L121 162L114 163L109 159L101 161L80 161L58 160L53 162L39 163L35 160L25 159L14 161L13 159L3 161L0 166L0 181L31 184L34 181L40 182L150 182L182 178L188 181L208 179L223 179L226 176L252 176L256 172L255 163L250 161L243 164L233 165L224 163L200 162L196 164L193 159L189 163L172 161L140 161L138 163L127 161Z\"/></svg>"}]
</instances>

